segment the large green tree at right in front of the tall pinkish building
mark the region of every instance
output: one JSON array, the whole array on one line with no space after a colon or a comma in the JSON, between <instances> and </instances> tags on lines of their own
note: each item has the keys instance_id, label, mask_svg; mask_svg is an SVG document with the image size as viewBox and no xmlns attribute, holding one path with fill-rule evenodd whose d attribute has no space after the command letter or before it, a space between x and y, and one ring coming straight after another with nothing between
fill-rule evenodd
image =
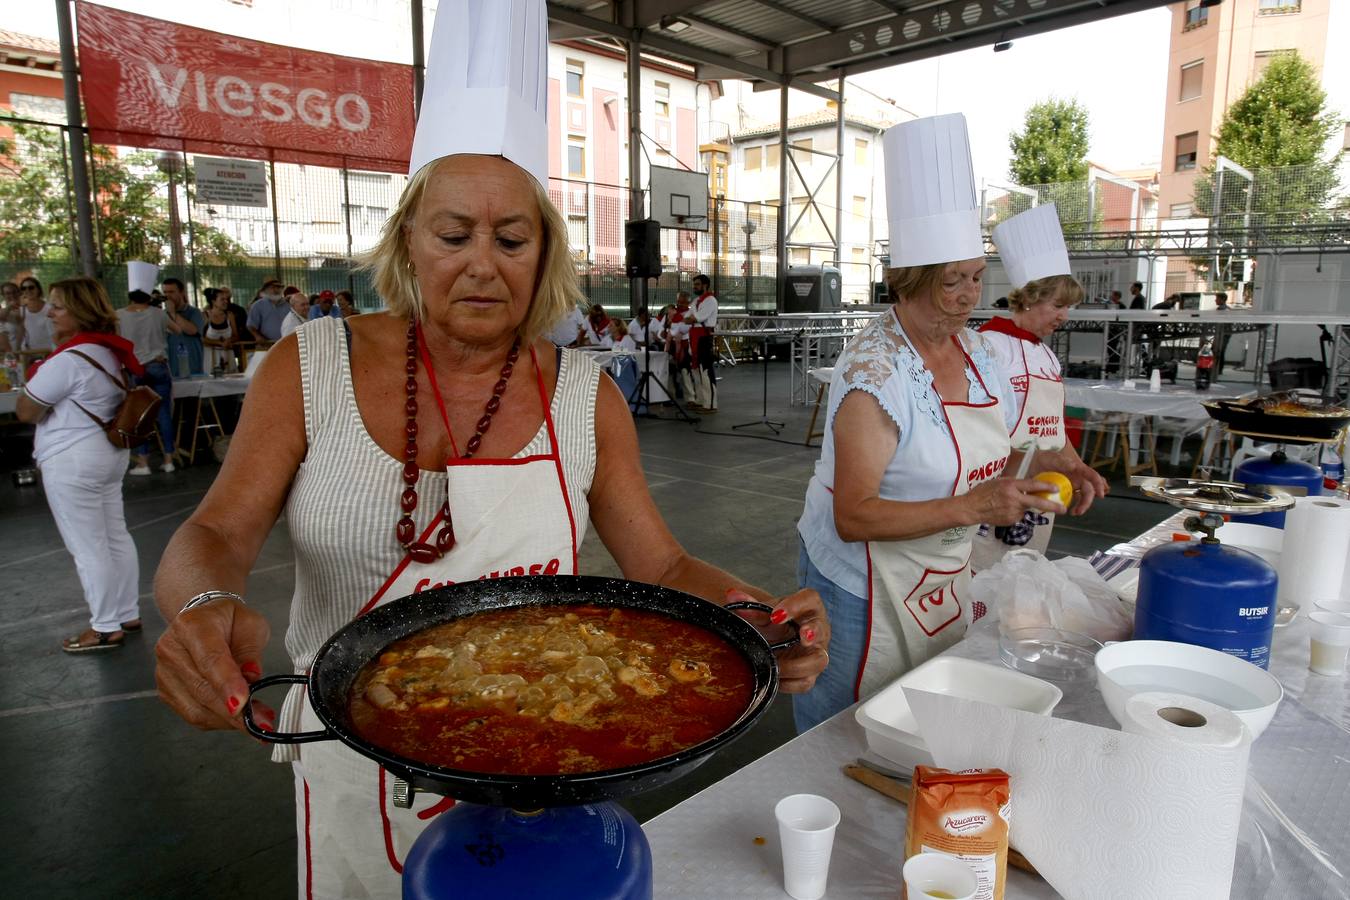
<instances>
[{"instance_id":1,"label":"large green tree at right in front of the tall pinkish building","mask_svg":"<svg viewBox=\"0 0 1350 900\"><path fill-rule=\"evenodd\" d=\"M1254 221L1293 225L1331 217L1332 196L1339 186L1341 152L1324 158L1324 147L1339 134L1343 119L1327 108L1316 69L1297 53L1274 57L1246 93L1223 116L1214 136L1211 163L1195 181L1197 215L1214 216L1218 157L1249 169L1256 182L1226 174L1219 197L1219 228L1237 228L1251 190ZM1277 236L1276 236L1277 237Z\"/></svg>"}]
</instances>

